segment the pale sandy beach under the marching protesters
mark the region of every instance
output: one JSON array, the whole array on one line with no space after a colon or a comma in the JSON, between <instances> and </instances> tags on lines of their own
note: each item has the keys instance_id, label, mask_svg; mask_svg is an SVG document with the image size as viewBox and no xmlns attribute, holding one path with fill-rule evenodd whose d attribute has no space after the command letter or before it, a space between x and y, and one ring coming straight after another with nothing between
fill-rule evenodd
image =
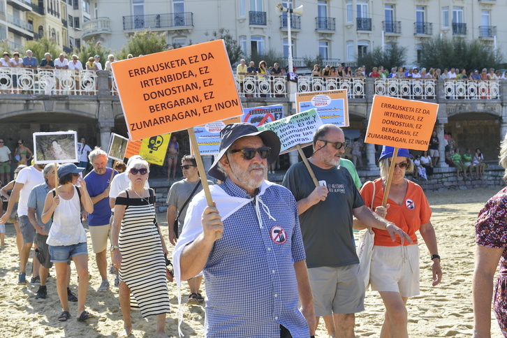
<instances>
[{"instance_id":1,"label":"pale sandy beach under the marching protesters","mask_svg":"<svg viewBox=\"0 0 507 338\"><path fill-rule=\"evenodd\" d=\"M431 261L419 236L421 294L411 298L408 303L411 337L471 336L473 327L471 278L475 246L473 224L478 210L499 189L501 187L427 193L433 210L432 223L439 243L439 254L442 257L443 281L439 286L431 286ZM166 225L165 214L159 214L159 221ZM162 228L167 239L167 227ZM90 240L88 251L92 252ZM0 251L0 337L118 337L122 332L123 321L119 309L118 290L112 286L108 292L96 292L101 278L92 255L89 255L91 279L86 304L87 310L96 314L97 318L87 323L76 321L77 303L71 303L70 320L64 323L57 321L61 307L56 291L54 268L47 282L48 295L45 300L35 299L38 286L17 285L18 269L15 230L12 224L8 224L6 247ZM30 271L31 259L27 266L27 279ZM110 275L111 285L112 281L113 277ZM71 289L75 293L77 284L76 274L73 273ZM176 284L169 284L169 290L172 309L167 318L166 332L170 337L177 337ZM188 294L189 290L184 286L182 289L184 302ZM358 337L379 337L383 321L383 304L378 293L367 291L365 308L366 311L356 316L356 334ZM185 337L203 337L205 316L203 307L184 304L182 309L184 316L182 330ZM155 318L144 319L139 312L133 312L132 317L131 337L154 337ZM492 337L501 338L493 315L492 318ZM316 337L327 337L323 323L319 325Z\"/></svg>"}]
</instances>

